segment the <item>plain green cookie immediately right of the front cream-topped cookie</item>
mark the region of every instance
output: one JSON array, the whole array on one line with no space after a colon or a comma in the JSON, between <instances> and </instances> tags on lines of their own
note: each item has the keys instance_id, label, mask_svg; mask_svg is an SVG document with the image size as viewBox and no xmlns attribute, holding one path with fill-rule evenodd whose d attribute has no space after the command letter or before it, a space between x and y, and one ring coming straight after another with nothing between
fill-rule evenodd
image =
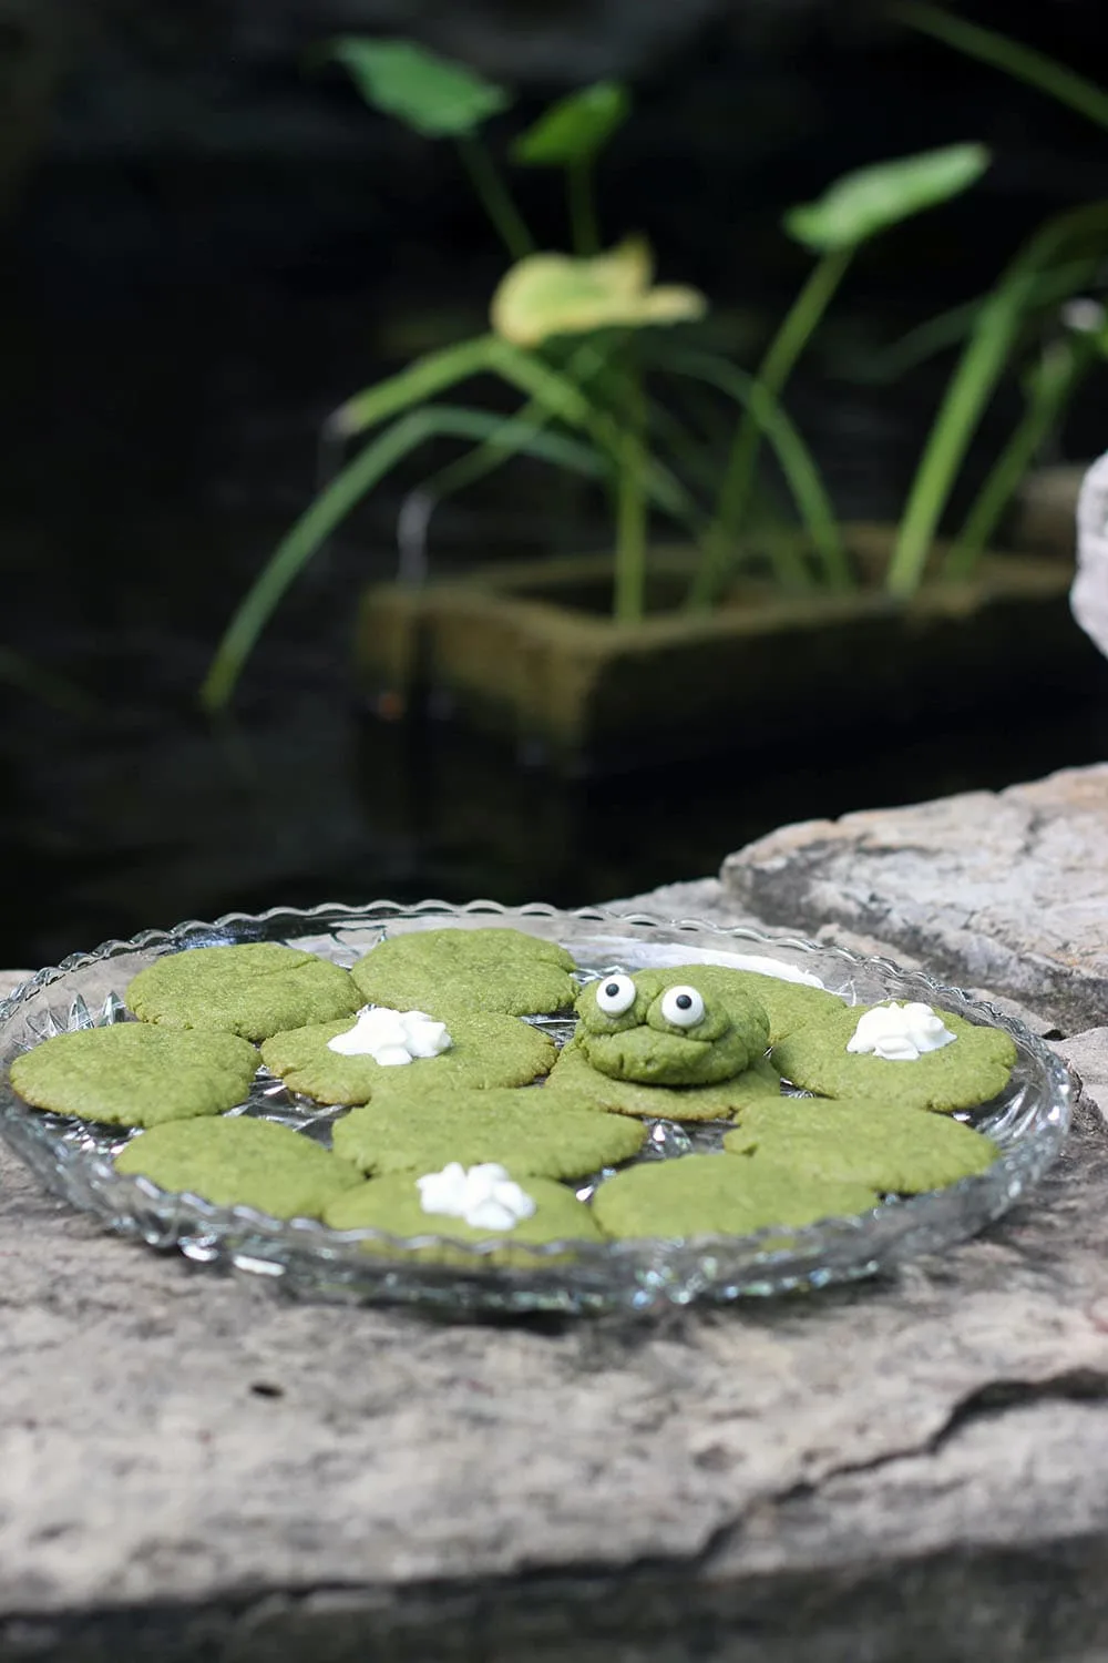
<instances>
[{"instance_id":1,"label":"plain green cookie immediately right of the front cream-topped cookie","mask_svg":"<svg viewBox=\"0 0 1108 1663\"><path fill-rule=\"evenodd\" d=\"M749 1236L772 1224L852 1217L877 1206L865 1184L787 1172L726 1154L648 1161L605 1179L593 1214L606 1236Z\"/></svg>"}]
</instances>

